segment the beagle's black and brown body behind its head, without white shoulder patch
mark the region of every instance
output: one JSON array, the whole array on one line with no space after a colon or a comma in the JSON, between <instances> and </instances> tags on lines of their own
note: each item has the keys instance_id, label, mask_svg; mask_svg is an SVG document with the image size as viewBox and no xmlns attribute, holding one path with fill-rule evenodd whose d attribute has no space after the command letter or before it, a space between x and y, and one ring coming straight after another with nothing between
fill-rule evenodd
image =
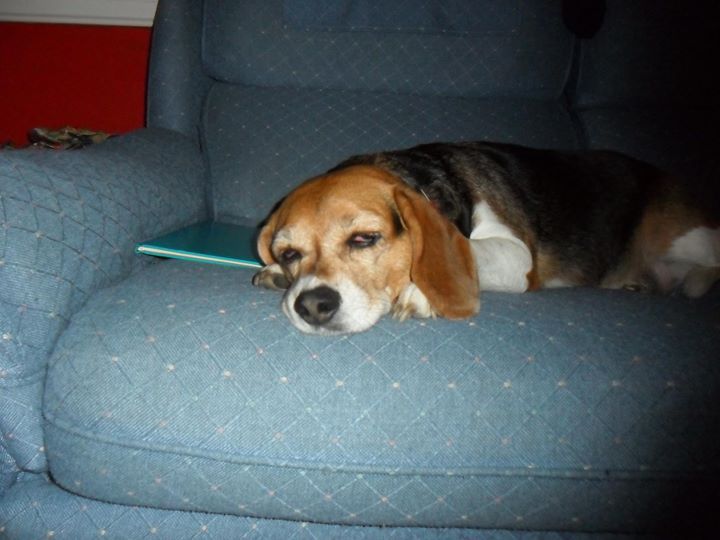
<instances>
[{"instance_id":1,"label":"beagle's black and brown body behind its head, without white shoulder patch","mask_svg":"<svg viewBox=\"0 0 720 540\"><path fill-rule=\"evenodd\" d=\"M528 246L530 289L684 283L696 296L716 279L718 222L678 179L617 152L432 143L354 156L334 170L357 164L396 174L468 238L485 202ZM703 279L693 277L696 266Z\"/></svg>"}]
</instances>

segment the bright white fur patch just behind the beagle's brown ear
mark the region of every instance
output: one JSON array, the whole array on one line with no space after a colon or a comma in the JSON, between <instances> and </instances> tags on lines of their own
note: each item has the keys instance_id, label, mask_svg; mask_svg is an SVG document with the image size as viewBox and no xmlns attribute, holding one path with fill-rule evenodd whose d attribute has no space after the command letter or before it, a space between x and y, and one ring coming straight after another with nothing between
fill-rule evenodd
<instances>
[{"instance_id":1,"label":"bright white fur patch just behind the beagle's brown ear","mask_svg":"<svg viewBox=\"0 0 720 540\"><path fill-rule=\"evenodd\" d=\"M485 201L477 203L473 209L470 245L481 290L527 290L527 275L533 265L530 249Z\"/></svg>"}]
</instances>

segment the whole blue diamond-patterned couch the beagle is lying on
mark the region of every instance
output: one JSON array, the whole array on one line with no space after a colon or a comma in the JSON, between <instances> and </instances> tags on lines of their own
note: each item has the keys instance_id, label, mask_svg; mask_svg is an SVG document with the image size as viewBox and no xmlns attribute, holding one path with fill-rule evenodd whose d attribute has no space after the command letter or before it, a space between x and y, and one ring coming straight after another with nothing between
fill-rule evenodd
<instances>
[{"instance_id":1,"label":"whole blue diamond-patterned couch the beagle is lying on","mask_svg":"<svg viewBox=\"0 0 720 540\"><path fill-rule=\"evenodd\" d=\"M249 270L133 254L420 142L612 148L712 187L717 18L606 4L161 0L146 129L0 153L0 538L702 534L717 292L488 293L319 338Z\"/></svg>"}]
</instances>

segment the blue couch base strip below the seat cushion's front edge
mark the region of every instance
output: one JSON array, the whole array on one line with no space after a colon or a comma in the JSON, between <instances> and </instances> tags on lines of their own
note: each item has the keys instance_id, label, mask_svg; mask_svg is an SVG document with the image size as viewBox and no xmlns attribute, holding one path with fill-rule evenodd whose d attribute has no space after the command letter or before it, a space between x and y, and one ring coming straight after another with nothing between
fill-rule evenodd
<instances>
[{"instance_id":1,"label":"blue couch base strip below the seat cushion's front edge","mask_svg":"<svg viewBox=\"0 0 720 540\"><path fill-rule=\"evenodd\" d=\"M613 534L379 527L348 528L306 521L244 518L121 506L71 495L42 475L24 475L0 505L0 537L54 540L228 540L287 538L350 540L630 540ZM652 540L645 537L645 540Z\"/></svg>"}]
</instances>

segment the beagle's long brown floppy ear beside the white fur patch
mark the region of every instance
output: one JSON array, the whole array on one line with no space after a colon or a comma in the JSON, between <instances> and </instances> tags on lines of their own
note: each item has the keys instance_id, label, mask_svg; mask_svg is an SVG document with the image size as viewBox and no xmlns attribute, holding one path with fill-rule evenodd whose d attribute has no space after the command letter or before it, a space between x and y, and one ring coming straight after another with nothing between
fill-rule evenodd
<instances>
[{"instance_id":1,"label":"beagle's long brown floppy ear beside the white fur patch","mask_svg":"<svg viewBox=\"0 0 720 540\"><path fill-rule=\"evenodd\" d=\"M463 319L477 313L480 287L470 241L410 189L398 188L395 204L410 235L413 283L443 317Z\"/></svg>"}]
</instances>

